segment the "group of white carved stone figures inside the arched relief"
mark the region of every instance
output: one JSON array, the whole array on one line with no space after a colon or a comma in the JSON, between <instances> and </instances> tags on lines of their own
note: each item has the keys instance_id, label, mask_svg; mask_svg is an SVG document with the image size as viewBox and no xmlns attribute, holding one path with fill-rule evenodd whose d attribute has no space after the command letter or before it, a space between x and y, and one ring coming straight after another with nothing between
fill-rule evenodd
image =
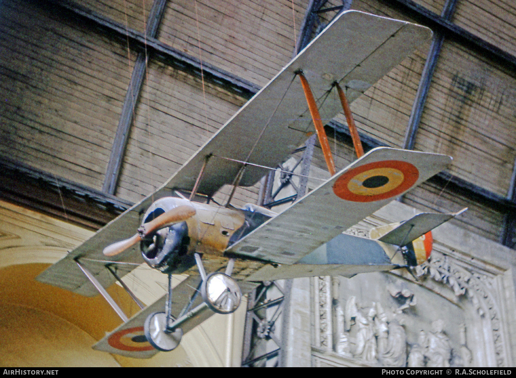
<instances>
[{"instance_id":1,"label":"group of white carved stone figures inside the arched relief","mask_svg":"<svg viewBox=\"0 0 516 378\"><path fill-rule=\"evenodd\" d=\"M434 321L431 331L421 330L417 342L408 343L402 311L415 306L415 295L408 289L396 290L393 285L387 289L393 299L401 302L400 306L387 310L378 302L361 306L357 298L351 296L343 310L342 304L334 301L337 340L334 352L359 359L367 365L449 367L452 348L448 336L443 332L444 321ZM461 353L469 352L465 345L459 348L462 348ZM456 363L454 366L463 365Z\"/></svg>"}]
</instances>

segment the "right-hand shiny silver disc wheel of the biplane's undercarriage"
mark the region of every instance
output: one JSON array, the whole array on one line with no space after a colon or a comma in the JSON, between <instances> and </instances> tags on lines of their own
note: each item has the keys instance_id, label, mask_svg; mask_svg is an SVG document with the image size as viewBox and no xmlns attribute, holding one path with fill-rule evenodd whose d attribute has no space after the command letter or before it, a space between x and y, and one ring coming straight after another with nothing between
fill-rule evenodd
<instances>
[{"instance_id":1,"label":"right-hand shiny silver disc wheel of the biplane's undercarriage","mask_svg":"<svg viewBox=\"0 0 516 378\"><path fill-rule=\"evenodd\" d=\"M233 278L224 273L208 275L201 285L201 295L210 309L218 314L233 313L242 299L242 292Z\"/></svg>"}]
</instances>

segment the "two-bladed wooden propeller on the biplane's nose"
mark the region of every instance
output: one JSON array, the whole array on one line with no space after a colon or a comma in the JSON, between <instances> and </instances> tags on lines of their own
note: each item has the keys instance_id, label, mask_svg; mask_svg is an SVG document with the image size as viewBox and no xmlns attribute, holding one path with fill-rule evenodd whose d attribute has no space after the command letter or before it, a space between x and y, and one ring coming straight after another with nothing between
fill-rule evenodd
<instances>
[{"instance_id":1,"label":"two-bladed wooden propeller on the biplane's nose","mask_svg":"<svg viewBox=\"0 0 516 378\"><path fill-rule=\"evenodd\" d=\"M136 233L134 236L108 245L106 248L104 248L102 253L104 253L106 256L118 255L119 253L125 251L127 248L130 248L136 243L140 242L144 237L156 231L157 229L163 228L173 223L183 222L193 217L195 213L196 210L193 206L182 205L174 207L172 210L164 212L162 215L156 217L152 221L143 223L138 228L138 233Z\"/></svg>"}]
</instances>

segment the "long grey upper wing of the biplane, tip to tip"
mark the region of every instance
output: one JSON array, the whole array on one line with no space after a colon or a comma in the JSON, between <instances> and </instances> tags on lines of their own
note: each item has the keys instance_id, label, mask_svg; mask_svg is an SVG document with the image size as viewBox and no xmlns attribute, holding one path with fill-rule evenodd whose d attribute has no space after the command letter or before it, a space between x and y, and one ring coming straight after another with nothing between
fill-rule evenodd
<instances>
[{"instance_id":1,"label":"long grey upper wing of the biplane, tip to tip","mask_svg":"<svg viewBox=\"0 0 516 378\"><path fill-rule=\"evenodd\" d=\"M336 96L329 92L334 81L347 88L348 101L352 102L430 37L430 29L409 22L359 11L341 13L167 183L44 271L38 280L82 295L96 295L98 292L78 269L75 259L80 258L104 287L114 283L115 278L102 262L106 259L102 254L104 247L132 237L140 225L140 215L154 200L175 189L191 190L206 156L212 157L198 191L211 195L231 184L240 169L240 163L225 158L276 167L305 141L313 126L300 81L295 77L298 70L307 77L325 122L341 110L338 101L331 101L331 96ZM247 166L240 185L254 185L265 173L263 168ZM142 262L137 246L109 260ZM135 267L120 265L119 275Z\"/></svg>"}]
</instances>

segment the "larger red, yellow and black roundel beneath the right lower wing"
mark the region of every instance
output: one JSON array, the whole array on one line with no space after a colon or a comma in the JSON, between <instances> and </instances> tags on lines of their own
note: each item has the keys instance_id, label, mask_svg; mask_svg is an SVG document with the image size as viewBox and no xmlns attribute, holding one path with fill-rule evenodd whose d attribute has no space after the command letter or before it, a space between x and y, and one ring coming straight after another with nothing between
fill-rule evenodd
<instances>
[{"instance_id":1,"label":"larger red, yellow and black roundel beneath the right lower wing","mask_svg":"<svg viewBox=\"0 0 516 378\"><path fill-rule=\"evenodd\" d=\"M417 168L406 161L375 161L343 173L333 184L333 192L347 201L380 201L403 193L418 177Z\"/></svg>"}]
</instances>

